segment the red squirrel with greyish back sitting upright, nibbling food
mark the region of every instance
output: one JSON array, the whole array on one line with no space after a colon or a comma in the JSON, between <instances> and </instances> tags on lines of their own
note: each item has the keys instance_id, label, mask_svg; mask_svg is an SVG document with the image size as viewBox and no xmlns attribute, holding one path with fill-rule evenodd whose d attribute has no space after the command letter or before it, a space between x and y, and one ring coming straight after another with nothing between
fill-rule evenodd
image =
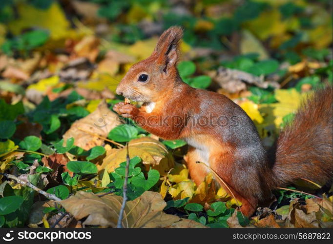
<instances>
[{"instance_id":1,"label":"red squirrel with greyish back sitting upright, nibbling food","mask_svg":"<svg viewBox=\"0 0 333 244\"><path fill-rule=\"evenodd\" d=\"M228 187L215 180L242 203L247 216L271 197L275 187L301 178L316 183L332 179L331 86L301 106L266 152L242 108L221 94L192 88L181 80L176 63L182 35L180 27L167 29L151 56L134 64L119 83L117 94L143 105L120 102L114 111L165 140L185 140L191 179L197 185L204 181L209 169L196 162L208 164Z\"/></svg>"}]
</instances>

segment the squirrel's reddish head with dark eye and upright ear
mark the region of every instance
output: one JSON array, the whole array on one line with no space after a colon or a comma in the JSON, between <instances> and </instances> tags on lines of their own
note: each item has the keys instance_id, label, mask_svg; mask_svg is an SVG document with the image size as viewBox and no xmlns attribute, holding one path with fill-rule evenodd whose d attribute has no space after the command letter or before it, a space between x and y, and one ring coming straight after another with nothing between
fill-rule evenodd
<instances>
[{"instance_id":1,"label":"squirrel's reddish head with dark eye and upright ear","mask_svg":"<svg viewBox=\"0 0 333 244\"><path fill-rule=\"evenodd\" d=\"M146 60L135 63L117 87L117 94L137 102L156 102L178 81L176 68L183 36L180 27L167 29Z\"/></svg>"}]
</instances>

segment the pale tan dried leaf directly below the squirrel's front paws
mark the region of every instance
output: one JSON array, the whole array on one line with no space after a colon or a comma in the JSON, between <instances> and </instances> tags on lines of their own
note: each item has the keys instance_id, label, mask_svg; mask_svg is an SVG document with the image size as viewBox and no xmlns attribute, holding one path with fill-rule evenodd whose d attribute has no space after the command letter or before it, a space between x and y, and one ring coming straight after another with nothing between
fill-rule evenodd
<instances>
[{"instance_id":1,"label":"pale tan dried leaf directly below the squirrel's front paws","mask_svg":"<svg viewBox=\"0 0 333 244\"><path fill-rule=\"evenodd\" d=\"M74 122L62 137L65 142L73 137L75 145L82 147L84 150L89 150L94 146L103 145L104 141L87 133L87 131L107 137L109 131L119 124L121 122L118 116L107 107L105 101L102 101L94 112Z\"/></svg>"}]
</instances>

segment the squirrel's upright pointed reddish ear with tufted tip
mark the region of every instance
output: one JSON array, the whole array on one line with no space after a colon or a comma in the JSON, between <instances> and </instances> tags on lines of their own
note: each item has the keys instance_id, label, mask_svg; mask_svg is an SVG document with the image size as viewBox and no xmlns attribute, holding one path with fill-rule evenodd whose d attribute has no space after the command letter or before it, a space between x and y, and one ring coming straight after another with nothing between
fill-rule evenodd
<instances>
[{"instance_id":1,"label":"squirrel's upright pointed reddish ear with tufted tip","mask_svg":"<svg viewBox=\"0 0 333 244\"><path fill-rule=\"evenodd\" d=\"M164 65L163 71L174 66L180 57L180 41L183 37L183 29L179 26L172 26L161 35L154 53L157 55L157 63Z\"/></svg>"}]
</instances>

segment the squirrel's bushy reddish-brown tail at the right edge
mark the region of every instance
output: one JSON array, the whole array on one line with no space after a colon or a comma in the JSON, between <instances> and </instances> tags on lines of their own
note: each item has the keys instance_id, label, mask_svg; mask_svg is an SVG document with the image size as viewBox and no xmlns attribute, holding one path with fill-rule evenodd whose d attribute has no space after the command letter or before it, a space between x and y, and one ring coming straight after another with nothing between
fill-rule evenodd
<instances>
[{"instance_id":1,"label":"squirrel's bushy reddish-brown tail at the right edge","mask_svg":"<svg viewBox=\"0 0 333 244\"><path fill-rule=\"evenodd\" d=\"M332 86L317 90L280 133L272 160L275 187L301 178L319 184L332 179L332 100Z\"/></svg>"}]
</instances>

